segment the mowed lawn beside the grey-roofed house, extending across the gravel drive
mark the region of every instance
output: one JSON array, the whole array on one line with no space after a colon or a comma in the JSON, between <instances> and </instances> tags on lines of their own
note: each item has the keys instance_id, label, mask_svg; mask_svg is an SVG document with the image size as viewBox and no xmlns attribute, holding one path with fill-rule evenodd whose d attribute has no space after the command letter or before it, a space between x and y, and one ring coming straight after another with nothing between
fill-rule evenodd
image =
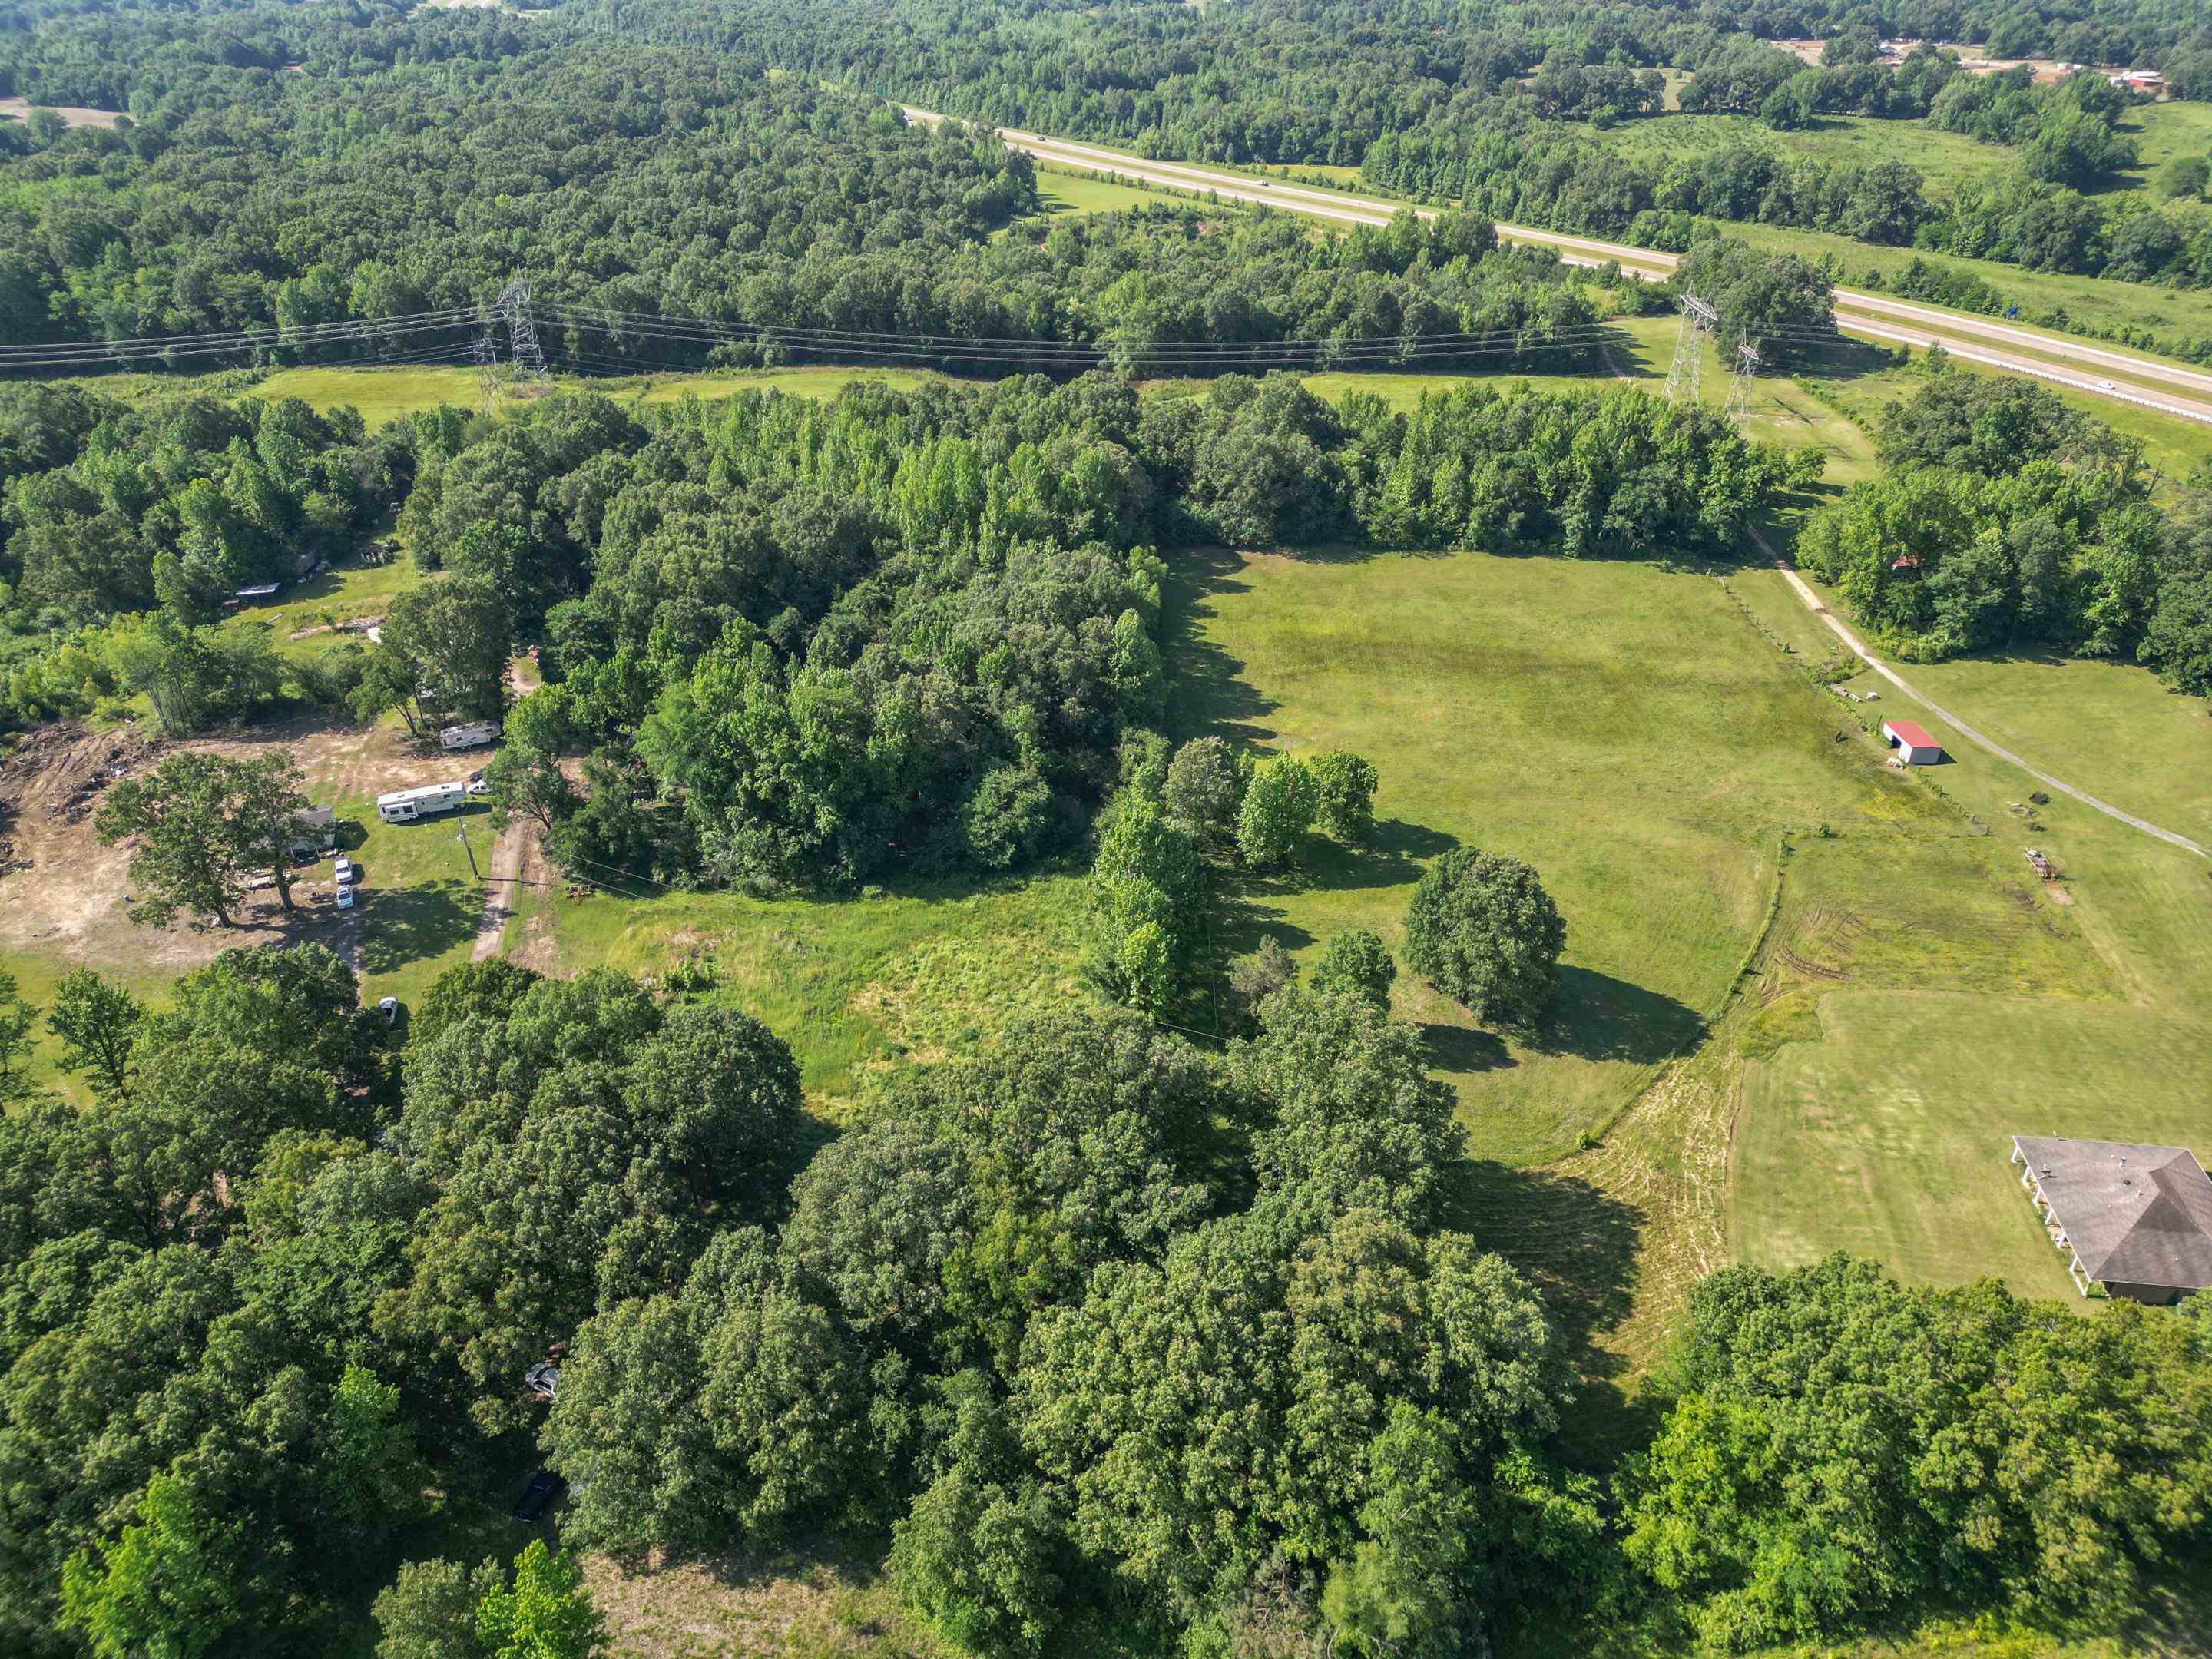
<instances>
[{"instance_id":1,"label":"mowed lawn beside the grey-roofed house, extending across the gravel drive","mask_svg":"<svg viewBox=\"0 0 2212 1659\"><path fill-rule=\"evenodd\" d=\"M1732 584L1807 659L1825 630L1778 573ZM1911 664L1922 692L2042 772L2205 838L2212 719L2148 672L2079 659ZM2212 860L2168 847L1962 739L1887 681L1843 681L1858 714L1916 719L1949 761L1929 770L1973 812L2017 927L1975 945L1951 922L1958 872L1924 863L1898 885L1792 865L1778 942L1778 1042L1745 1064L1730 1241L1794 1265L1860 1250L1911 1279L1997 1274L2081 1305L2006 1175L2008 1137L2150 1139L2212 1155ZM2035 803L2033 792L2051 799ZM2064 874L2024 880L2037 847ZM1867 942L1871 907L1918 916L1920 960ZM1982 964L1982 973L1969 969ZM1995 971L2006 967L2011 971ZM1794 984L1792 984L1794 978Z\"/></svg>"}]
</instances>

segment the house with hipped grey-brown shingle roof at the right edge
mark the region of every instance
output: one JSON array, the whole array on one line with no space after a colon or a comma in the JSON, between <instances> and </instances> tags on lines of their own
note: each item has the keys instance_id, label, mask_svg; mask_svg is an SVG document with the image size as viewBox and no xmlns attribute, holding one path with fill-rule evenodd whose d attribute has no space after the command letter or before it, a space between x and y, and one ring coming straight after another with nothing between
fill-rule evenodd
<instances>
[{"instance_id":1,"label":"house with hipped grey-brown shingle roof at the right edge","mask_svg":"<svg viewBox=\"0 0 2212 1659\"><path fill-rule=\"evenodd\" d=\"M2172 1303L2212 1285L2212 1177L2185 1146L2015 1135L2013 1164L2084 1296L2101 1283Z\"/></svg>"}]
</instances>

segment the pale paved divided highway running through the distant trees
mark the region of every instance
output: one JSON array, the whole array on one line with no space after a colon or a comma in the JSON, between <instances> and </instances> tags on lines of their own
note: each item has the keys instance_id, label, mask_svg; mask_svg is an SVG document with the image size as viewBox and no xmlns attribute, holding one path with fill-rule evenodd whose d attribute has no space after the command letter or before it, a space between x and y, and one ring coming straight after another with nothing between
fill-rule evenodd
<instances>
[{"instance_id":1,"label":"pale paved divided highway running through the distant trees","mask_svg":"<svg viewBox=\"0 0 2212 1659\"><path fill-rule=\"evenodd\" d=\"M905 108L909 122L936 126L945 119L933 111L914 108L911 104L902 104L900 108ZM1186 161L1148 161L1141 155L1022 133L1011 126L998 128L998 135L1009 148L1033 155L1040 161L1117 173L1166 190L1206 190L1225 201L1254 201L1336 223L1387 226L1391 215L1409 206L1345 190L1314 190L1301 184L1265 181L1245 173L1225 173ZM1425 219L1436 217L1433 208L1413 208L1413 212ZM1528 226L1500 223L1498 234L1509 241L1533 241L1557 248L1559 257L1575 265L1601 265L1613 259L1619 261L1621 270L1659 281L1672 276L1674 265L1681 263L1674 254L1655 248L1626 248L1615 241L1568 237ZM1836 290L1836 325L1851 334L1896 345L1942 345L1964 363L2028 374L2037 380L2073 387L2075 392L2212 425L2212 374L2199 369L2154 363L2152 358L2101 345L2008 327L1993 319L1960 316L1958 312L1916 305L1885 294L1863 294L1849 288Z\"/></svg>"}]
</instances>

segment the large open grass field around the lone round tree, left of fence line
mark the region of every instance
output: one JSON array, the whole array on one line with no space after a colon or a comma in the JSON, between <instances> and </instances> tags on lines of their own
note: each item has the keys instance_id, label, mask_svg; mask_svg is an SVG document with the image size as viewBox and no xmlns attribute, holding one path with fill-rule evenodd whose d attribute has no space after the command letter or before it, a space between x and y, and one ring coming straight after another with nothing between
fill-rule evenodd
<instances>
[{"instance_id":1,"label":"large open grass field around the lone round tree, left of fence line","mask_svg":"<svg viewBox=\"0 0 2212 1659\"><path fill-rule=\"evenodd\" d=\"M1818 692L1708 575L1482 553L1214 555L1181 566L1186 734L1345 748L1380 770L1374 849L1323 849L1223 916L1312 962L1332 933L1402 945L1420 869L1453 845L1537 867L1568 922L1564 998L1531 1037L1489 1033L1400 978L1398 1013L1460 1091L1478 1157L1542 1161L1601 1130L1694 1042L1774 898L1783 838L1865 834L1882 878L1960 821L1838 743ZM1973 841L1969 902L1997 949L2015 894ZM2020 883L2015 883L2020 885Z\"/></svg>"}]
</instances>

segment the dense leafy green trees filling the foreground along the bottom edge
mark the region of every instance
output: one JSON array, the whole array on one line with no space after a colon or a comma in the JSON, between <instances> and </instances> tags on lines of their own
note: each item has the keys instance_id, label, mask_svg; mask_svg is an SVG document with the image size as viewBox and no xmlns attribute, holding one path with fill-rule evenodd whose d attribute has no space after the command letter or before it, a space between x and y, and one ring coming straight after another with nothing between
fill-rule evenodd
<instances>
[{"instance_id":1,"label":"dense leafy green trees filling the foreground along the bottom edge","mask_svg":"<svg viewBox=\"0 0 2212 1659\"><path fill-rule=\"evenodd\" d=\"M900 1595L982 1655L1478 1655L1586 1619L1741 1650L1929 1597L2110 1628L2203 1542L2205 1298L1728 1270L1650 1442L1610 1489L1568 1469L1562 1338L1453 1225L1482 1148L1356 971L1221 1055L1033 1024L827 1146L728 1006L504 962L403 1031L356 995L321 947L232 951L164 1013L75 973L82 1110L22 1084L44 1011L7 1004L11 1652L327 1652L380 1590L392 1659L584 1659L566 1557L511 1590L407 1559L425 1493L533 1436L573 1546L889 1533Z\"/></svg>"}]
</instances>

